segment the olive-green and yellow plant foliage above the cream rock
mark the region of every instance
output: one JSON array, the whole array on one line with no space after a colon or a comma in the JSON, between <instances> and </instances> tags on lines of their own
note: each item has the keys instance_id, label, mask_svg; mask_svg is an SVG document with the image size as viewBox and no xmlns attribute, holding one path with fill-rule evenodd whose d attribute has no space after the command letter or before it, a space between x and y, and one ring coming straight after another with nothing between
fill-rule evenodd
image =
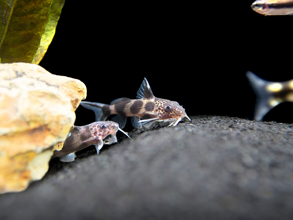
<instances>
[{"instance_id":1,"label":"olive-green and yellow plant foliage above the cream rock","mask_svg":"<svg viewBox=\"0 0 293 220\"><path fill-rule=\"evenodd\" d=\"M55 33L65 0L0 0L1 62L38 64Z\"/></svg>"}]
</instances>

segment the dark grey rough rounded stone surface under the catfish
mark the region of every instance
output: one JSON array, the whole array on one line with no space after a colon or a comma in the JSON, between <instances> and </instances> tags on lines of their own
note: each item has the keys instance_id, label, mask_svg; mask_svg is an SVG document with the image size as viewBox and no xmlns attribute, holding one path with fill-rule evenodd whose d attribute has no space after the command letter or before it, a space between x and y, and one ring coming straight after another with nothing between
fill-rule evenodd
<instances>
[{"instance_id":1,"label":"dark grey rough rounded stone surface under the catfish","mask_svg":"<svg viewBox=\"0 0 293 220\"><path fill-rule=\"evenodd\" d=\"M0 219L292 219L293 125L193 116L51 160Z\"/></svg>"}]
</instances>

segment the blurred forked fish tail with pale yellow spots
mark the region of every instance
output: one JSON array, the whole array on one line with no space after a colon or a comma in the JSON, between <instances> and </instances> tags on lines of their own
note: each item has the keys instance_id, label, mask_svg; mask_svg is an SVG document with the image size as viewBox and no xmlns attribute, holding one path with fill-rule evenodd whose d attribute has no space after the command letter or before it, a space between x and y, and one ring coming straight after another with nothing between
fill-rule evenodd
<instances>
[{"instance_id":1,"label":"blurred forked fish tail with pale yellow spots","mask_svg":"<svg viewBox=\"0 0 293 220\"><path fill-rule=\"evenodd\" d=\"M293 102L293 79L285 82L270 82L264 80L253 72L246 72L249 84L256 95L254 119L260 121L278 104Z\"/></svg>"}]
</instances>

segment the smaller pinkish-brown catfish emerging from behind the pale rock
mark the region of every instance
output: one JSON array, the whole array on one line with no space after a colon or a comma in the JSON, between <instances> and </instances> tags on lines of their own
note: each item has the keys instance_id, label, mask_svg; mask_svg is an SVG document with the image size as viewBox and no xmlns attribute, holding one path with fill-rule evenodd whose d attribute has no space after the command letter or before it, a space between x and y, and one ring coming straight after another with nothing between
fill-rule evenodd
<instances>
[{"instance_id":1,"label":"smaller pinkish-brown catfish emerging from behind the pale rock","mask_svg":"<svg viewBox=\"0 0 293 220\"><path fill-rule=\"evenodd\" d=\"M74 161L75 152L90 145L95 145L97 154L99 154L104 144L117 143L116 133L118 130L129 137L114 121L97 121L85 126L74 126L69 131L63 148L59 151L54 150L52 158L59 157L62 162ZM108 135L111 135L111 138L105 139Z\"/></svg>"}]
</instances>

